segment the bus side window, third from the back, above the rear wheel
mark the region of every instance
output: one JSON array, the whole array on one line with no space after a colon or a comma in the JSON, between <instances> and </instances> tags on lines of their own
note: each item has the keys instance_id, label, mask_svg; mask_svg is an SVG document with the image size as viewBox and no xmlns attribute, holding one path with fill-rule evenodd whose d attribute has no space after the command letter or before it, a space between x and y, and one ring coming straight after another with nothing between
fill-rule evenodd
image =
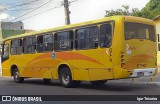
<instances>
[{"instance_id":1,"label":"bus side window, third from the back, above the rear wheel","mask_svg":"<svg viewBox=\"0 0 160 104\"><path fill-rule=\"evenodd\" d=\"M67 51L73 49L73 31L64 31L55 34L55 50Z\"/></svg>"}]
</instances>

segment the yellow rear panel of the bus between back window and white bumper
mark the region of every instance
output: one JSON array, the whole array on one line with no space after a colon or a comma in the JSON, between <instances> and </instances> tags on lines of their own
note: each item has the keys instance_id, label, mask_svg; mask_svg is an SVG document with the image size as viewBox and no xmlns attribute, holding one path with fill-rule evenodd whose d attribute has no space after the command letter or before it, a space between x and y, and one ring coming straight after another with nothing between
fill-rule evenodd
<instances>
[{"instance_id":1,"label":"yellow rear panel of the bus between back window and white bumper","mask_svg":"<svg viewBox=\"0 0 160 104\"><path fill-rule=\"evenodd\" d=\"M155 50L156 44L149 40L126 41L126 68L132 70L136 68L156 67L157 52Z\"/></svg>"}]
</instances>

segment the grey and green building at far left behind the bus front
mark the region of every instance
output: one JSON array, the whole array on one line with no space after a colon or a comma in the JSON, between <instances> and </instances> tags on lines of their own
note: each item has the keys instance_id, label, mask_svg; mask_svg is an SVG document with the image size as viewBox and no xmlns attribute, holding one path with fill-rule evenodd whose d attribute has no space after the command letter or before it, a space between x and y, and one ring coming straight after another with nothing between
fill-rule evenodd
<instances>
[{"instance_id":1,"label":"grey and green building at far left behind the bus front","mask_svg":"<svg viewBox=\"0 0 160 104\"><path fill-rule=\"evenodd\" d=\"M18 22L1 22L0 23L0 43L3 39L25 33L23 23Z\"/></svg>"}]
</instances>

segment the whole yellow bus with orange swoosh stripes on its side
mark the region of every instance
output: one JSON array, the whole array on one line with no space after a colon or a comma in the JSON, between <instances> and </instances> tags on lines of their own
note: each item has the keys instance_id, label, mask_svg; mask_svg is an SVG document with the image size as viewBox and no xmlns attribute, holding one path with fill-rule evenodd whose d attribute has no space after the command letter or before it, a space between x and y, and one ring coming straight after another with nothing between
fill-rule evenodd
<instances>
[{"instance_id":1,"label":"whole yellow bus with orange swoosh stripes on its side","mask_svg":"<svg viewBox=\"0 0 160 104\"><path fill-rule=\"evenodd\" d=\"M156 75L157 38L152 20L112 16L12 36L2 44L2 75L58 79L64 87L81 81Z\"/></svg>"}]
</instances>

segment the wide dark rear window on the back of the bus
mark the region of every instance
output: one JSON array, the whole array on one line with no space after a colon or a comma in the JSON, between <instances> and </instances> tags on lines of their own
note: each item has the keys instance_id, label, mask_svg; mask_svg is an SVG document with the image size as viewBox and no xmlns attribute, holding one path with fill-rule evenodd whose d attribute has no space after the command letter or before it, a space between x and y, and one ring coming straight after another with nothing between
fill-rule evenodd
<instances>
[{"instance_id":1,"label":"wide dark rear window on the back of the bus","mask_svg":"<svg viewBox=\"0 0 160 104\"><path fill-rule=\"evenodd\" d=\"M156 41L155 29L152 25L125 22L125 39L148 39L151 41Z\"/></svg>"}]
</instances>

